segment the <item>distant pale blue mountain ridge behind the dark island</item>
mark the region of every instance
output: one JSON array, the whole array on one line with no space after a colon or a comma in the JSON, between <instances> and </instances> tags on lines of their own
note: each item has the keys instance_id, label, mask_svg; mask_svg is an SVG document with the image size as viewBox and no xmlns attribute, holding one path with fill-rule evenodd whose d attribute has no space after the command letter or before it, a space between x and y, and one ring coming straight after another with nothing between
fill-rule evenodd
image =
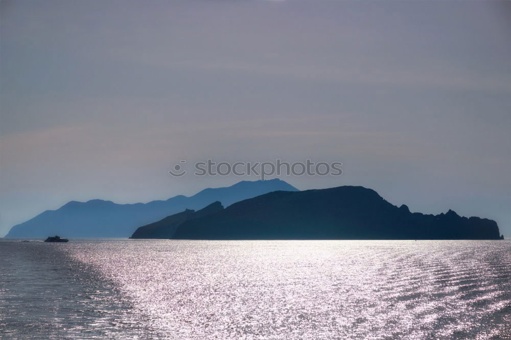
<instances>
[{"instance_id":1,"label":"distant pale blue mountain ridge behind the dark island","mask_svg":"<svg viewBox=\"0 0 511 340\"><path fill-rule=\"evenodd\" d=\"M175 196L167 201L117 204L111 201L71 201L57 210L47 210L11 228L6 237L129 237L137 227L189 209L202 209L220 201L229 206L238 201L284 190L299 191L279 179L241 181L229 187L207 188L191 197Z\"/></svg>"}]
</instances>

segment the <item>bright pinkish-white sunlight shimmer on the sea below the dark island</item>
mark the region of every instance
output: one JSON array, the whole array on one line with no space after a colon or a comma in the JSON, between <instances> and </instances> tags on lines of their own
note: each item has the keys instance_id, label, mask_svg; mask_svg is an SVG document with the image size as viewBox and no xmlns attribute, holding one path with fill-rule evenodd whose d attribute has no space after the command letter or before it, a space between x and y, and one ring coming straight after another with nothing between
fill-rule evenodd
<instances>
[{"instance_id":1,"label":"bright pinkish-white sunlight shimmer on the sea below the dark island","mask_svg":"<svg viewBox=\"0 0 511 340\"><path fill-rule=\"evenodd\" d=\"M509 240L94 240L68 246L54 249L113 283L129 305L118 317L143 330L142 337L510 334Z\"/></svg>"}]
</instances>

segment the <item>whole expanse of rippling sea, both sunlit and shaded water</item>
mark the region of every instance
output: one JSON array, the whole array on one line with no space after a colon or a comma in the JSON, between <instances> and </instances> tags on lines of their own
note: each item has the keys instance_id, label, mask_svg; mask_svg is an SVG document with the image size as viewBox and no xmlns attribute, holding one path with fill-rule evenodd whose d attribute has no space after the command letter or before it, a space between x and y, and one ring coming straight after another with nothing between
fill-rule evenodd
<instances>
[{"instance_id":1,"label":"whole expanse of rippling sea, both sunlit and shaded water","mask_svg":"<svg viewBox=\"0 0 511 340\"><path fill-rule=\"evenodd\" d=\"M3 239L0 338L511 338L511 240Z\"/></svg>"}]
</instances>

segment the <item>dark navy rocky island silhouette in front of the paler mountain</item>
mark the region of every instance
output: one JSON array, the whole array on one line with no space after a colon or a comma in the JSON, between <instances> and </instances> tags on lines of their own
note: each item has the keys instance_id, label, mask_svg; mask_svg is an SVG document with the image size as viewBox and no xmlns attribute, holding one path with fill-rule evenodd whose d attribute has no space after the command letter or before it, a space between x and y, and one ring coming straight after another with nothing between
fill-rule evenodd
<instances>
[{"instance_id":1,"label":"dark navy rocky island silhouette in front of the paler mountain","mask_svg":"<svg viewBox=\"0 0 511 340\"><path fill-rule=\"evenodd\" d=\"M139 228L132 238L172 239L501 239L497 223L410 212L374 190L340 186L275 191L211 213L184 211Z\"/></svg>"}]
</instances>

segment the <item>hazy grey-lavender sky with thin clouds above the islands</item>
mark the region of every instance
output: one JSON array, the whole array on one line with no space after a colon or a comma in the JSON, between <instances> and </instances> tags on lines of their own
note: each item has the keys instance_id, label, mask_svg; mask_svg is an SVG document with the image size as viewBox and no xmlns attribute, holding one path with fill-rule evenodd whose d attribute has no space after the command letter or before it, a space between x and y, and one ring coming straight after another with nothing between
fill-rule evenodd
<instances>
[{"instance_id":1,"label":"hazy grey-lavender sky with thin clouds above the islands","mask_svg":"<svg viewBox=\"0 0 511 340\"><path fill-rule=\"evenodd\" d=\"M508 1L0 3L0 236L67 201L257 177L174 164L340 161L373 188L511 236Z\"/></svg>"}]
</instances>

